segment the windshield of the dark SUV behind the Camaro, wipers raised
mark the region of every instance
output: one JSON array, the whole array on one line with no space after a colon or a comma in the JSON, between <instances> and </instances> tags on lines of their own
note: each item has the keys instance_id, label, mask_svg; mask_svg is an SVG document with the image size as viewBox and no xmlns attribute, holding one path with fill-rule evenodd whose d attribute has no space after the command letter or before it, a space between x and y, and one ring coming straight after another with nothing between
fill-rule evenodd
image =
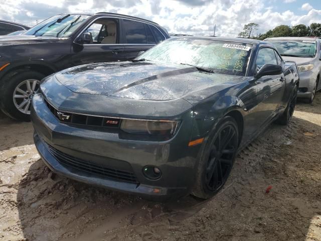
<instances>
[{"instance_id":1,"label":"windshield of the dark SUV behind the Camaro, wipers raised","mask_svg":"<svg viewBox=\"0 0 321 241\"><path fill-rule=\"evenodd\" d=\"M31 28L25 32L24 35L59 38L69 37L88 17L88 15L69 14L54 16Z\"/></svg>"}]
</instances>

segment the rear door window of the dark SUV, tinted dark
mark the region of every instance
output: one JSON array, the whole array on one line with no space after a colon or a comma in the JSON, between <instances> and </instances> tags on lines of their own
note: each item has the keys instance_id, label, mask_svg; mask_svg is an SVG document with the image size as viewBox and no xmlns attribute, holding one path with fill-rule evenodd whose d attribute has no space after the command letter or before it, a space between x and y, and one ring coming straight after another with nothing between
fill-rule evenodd
<instances>
[{"instance_id":1,"label":"rear door window of the dark SUV, tinted dark","mask_svg":"<svg viewBox=\"0 0 321 241\"><path fill-rule=\"evenodd\" d=\"M147 37L143 23L123 20L127 44L146 44Z\"/></svg>"}]
</instances>

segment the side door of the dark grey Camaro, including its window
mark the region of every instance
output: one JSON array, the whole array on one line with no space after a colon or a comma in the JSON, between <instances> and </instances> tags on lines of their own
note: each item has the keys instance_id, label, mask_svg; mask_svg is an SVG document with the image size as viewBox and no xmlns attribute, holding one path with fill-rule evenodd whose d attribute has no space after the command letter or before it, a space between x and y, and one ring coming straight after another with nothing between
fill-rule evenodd
<instances>
[{"instance_id":1,"label":"side door of the dark grey Camaro, including its window","mask_svg":"<svg viewBox=\"0 0 321 241\"><path fill-rule=\"evenodd\" d=\"M259 49L256 57L256 71L264 64L278 64L274 49L263 47ZM281 63L279 63L281 64ZM284 74L266 75L256 80L258 111L257 121L262 126L270 121L282 105L285 90Z\"/></svg>"}]
</instances>

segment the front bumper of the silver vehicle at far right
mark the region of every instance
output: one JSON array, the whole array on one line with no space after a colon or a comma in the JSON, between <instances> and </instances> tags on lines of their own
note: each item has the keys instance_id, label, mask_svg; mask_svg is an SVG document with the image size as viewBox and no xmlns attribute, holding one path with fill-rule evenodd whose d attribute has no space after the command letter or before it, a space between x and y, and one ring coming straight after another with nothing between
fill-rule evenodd
<instances>
[{"instance_id":1,"label":"front bumper of the silver vehicle at far right","mask_svg":"<svg viewBox=\"0 0 321 241\"><path fill-rule=\"evenodd\" d=\"M300 83L297 97L310 98L317 78L317 73L314 73L312 70L299 72L299 77Z\"/></svg>"}]
</instances>

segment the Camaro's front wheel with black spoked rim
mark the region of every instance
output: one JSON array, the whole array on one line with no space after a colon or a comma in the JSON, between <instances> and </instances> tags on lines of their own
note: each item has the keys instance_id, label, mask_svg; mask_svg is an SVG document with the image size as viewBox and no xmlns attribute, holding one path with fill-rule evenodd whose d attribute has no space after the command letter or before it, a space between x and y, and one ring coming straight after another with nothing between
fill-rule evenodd
<instances>
[{"instance_id":1,"label":"Camaro's front wheel with black spoked rim","mask_svg":"<svg viewBox=\"0 0 321 241\"><path fill-rule=\"evenodd\" d=\"M213 197L224 186L238 150L239 133L234 118L225 116L213 133L198 164L191 191L192 195L202 199Z\"/></svg>"}]
</instances>

